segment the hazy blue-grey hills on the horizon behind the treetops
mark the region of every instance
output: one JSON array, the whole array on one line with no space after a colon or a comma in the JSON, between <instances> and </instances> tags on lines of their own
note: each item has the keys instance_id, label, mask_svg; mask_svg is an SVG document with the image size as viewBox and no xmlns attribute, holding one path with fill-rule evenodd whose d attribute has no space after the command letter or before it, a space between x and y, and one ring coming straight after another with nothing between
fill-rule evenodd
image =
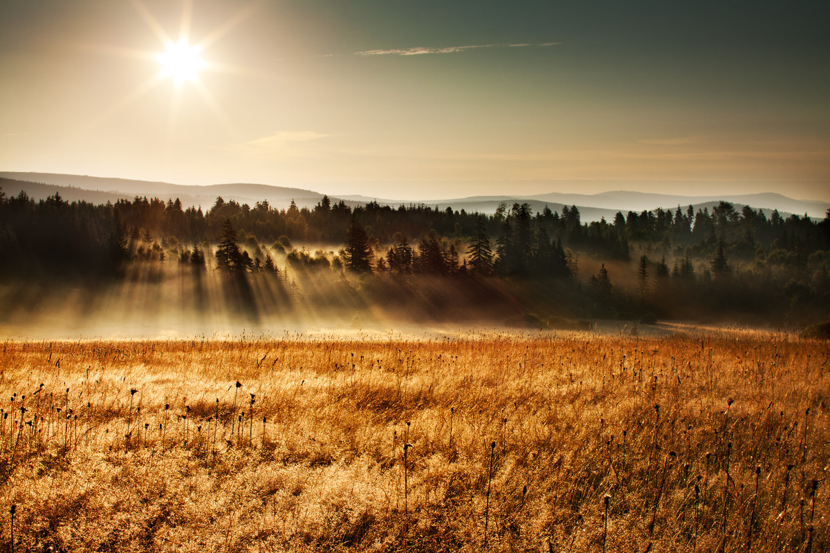
<instances>
[{"instance_id":1,"label":"hazy blue-grey hills on the horizon behind the treetops","mask_svg":"<svg viewBox=\"0 0 830 553\"><path fill-rule=\"evenodd\" d=\"M207 210L222 196L225 201L234 200L254 206L257 201L267 201L276 208L286 208L295 201L302 207L312 208L323 197L323 193L302 188L274 187L265 184L214 184L210 186L183 186L168 182L134 181L123 178L86 177L81 175L62 175L41 172L0 172L0 189L7 196L17 196L26 192L38 200L60 193L66 201L89 201L100 204L120 199L132 200L135 196L158 197L161 200L178 198L184 206L201 206ZM427 205L455 211L493 213L500 204L508 208L514 203L529 203L533 212L542 211L549 206L553 211L562 211L563 206L577 206L583 222L598 221L604 217L612 221L617 211L648 211L658 207L674 211L681 206L695 210L716 206L720 201L730 201L740 210L742 206L763 208L769 215L777 209L782 216L791 213L823 219L830 203L824 201L793 200L787 196L772 192L758 194L725 194L723 196L677 196L670 194L651 194L645 192L603 192L600 194L568 194L549 192L531 196L469 196L452 200L384 200L368 196L330 196L333 202L343 200L349 206L365 205L369 201L390 206Z\"/></svg>"}]
</instances>

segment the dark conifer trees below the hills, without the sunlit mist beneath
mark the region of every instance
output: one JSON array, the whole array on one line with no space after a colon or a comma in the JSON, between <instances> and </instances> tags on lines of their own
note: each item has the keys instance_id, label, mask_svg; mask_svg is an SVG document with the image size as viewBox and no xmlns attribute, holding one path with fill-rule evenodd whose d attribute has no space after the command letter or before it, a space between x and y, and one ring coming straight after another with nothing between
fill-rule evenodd
<instances>
[{"instance_id":1,"label":"dark conifer trees below the hills, without the sunlit mist beneath","mask_svg":"<svg viewBox=\"0 0 830 553\"><path fill-rule=\"evenodd\" d=\"M217 197L203 211L178 199L93 205L57 193L35 201L0 191L0 275L7 281L118 280L129 262L170 255L196 270L214 260L234 274L279 274L283 263L297 274L328 270L409 285L418 275L500 279L523 303L552 313L809 308L826 316L830 211L814 221L721 201L711 211L619 211L613 221L583 223L577 206L533 213L515 203L488 215L377 202L350 207L328 196L312 209Z\"/></svg>"}]
</instances>

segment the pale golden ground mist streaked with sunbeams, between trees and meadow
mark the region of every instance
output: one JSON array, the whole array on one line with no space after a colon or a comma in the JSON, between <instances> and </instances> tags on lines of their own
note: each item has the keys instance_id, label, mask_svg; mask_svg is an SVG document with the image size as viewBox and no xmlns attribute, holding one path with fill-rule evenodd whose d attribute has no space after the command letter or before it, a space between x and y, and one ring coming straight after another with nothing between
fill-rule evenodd
<instances>
[{"instance_id":1,"label":"pale golden ground mist streaked with sunbeams, between trees and meadow","mask_svg":"<svg viewBox=\"0 0 830 553\"><path fill-rule=\"evenodd\" d=\"M499 279L383 279L325 268L228 272L178 260L135 260L117 280L55 278L0 285L0 332L11 338L189 337L388 332L498 325L522 310Z\"/></svg>"}]
</instances>

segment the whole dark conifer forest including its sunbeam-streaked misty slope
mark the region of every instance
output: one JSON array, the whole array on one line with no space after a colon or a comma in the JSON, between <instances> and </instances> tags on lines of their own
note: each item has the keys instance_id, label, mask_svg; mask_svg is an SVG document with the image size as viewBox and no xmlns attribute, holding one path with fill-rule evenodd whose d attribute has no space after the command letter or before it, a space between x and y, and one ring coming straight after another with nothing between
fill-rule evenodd
<instances>
[{"instance_id":1,"label":"whole dark conifer forest including its sunbeam-streaked misty slope","mask_svg":"<svg viewBox=\"0 0 830 553\"><path fill-rule=\"evenodd\" d=\"M828 317L830 212L815 221L721 201L583 222L577 206L534 213L518 203L485 215L217 197L203 211L178 199L0 193L0 260L6 323L74 294L99 311L222 311L251 323L803 324ZM115 299L96 304L106 294Z\"/></svg>"}]
</instances>

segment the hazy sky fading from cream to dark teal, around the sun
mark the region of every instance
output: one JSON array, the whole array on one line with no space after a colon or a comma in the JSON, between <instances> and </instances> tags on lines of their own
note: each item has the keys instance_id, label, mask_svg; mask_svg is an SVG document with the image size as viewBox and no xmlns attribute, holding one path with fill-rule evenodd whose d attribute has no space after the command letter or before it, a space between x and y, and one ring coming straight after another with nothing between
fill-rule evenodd
<instances>
[{"instance_id":1,"label":"hazy sky fading from cream to dark teal, around the sun","mask_svg":"<svg viewBox=\"0 0 830 553\"><path fill-rule=\"evenodd\" d=\"M830 200L828 22L759 0L3 0L0 170ZM177 82L157 56L183 35L204 66Z\"/></svg>"}]
</instances>

